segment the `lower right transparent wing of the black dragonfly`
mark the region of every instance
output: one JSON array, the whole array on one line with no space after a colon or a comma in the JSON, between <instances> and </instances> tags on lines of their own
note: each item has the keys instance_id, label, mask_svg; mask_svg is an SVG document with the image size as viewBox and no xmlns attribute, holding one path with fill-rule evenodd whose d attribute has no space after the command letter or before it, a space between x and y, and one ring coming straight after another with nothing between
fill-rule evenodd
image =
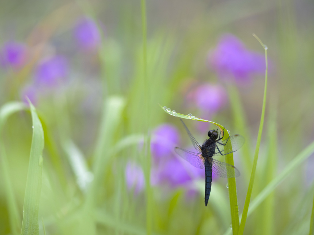
<instances>
[{"instance_id":1,"label":"lower right transparent wing of the black dragonfly","mask_svg":"<svg viewBox=\"0 0 314 235\"><path fill-rule=\"evenodd\" d=\"M240 176L240 172L235 166L225 162L218 161L213 158L208 158L208 161L213 167L213 173L223 178L233 178Z\"/></svg>"}]
</instances>

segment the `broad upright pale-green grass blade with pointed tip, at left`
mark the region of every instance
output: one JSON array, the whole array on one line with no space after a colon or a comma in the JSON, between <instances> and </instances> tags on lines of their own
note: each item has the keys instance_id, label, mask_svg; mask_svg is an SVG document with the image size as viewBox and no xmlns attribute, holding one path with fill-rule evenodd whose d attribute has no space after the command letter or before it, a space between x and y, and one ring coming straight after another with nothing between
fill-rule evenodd
<instances>
[{"instance_id":1,"label":"broad upright pale-green grass blade with pointed tip, at left","mask_svg":"<svg viewBox=\"0 0 314 235\"><path fill-rule=\"evenodd\" d=\"M33 122L33 137L30 148L30 162L26 179L22 235L38 234L38 210L41 195L42 151L44 149L44 131L37 116L35 107L30 103Z\"/></svg>"}]
</instances>

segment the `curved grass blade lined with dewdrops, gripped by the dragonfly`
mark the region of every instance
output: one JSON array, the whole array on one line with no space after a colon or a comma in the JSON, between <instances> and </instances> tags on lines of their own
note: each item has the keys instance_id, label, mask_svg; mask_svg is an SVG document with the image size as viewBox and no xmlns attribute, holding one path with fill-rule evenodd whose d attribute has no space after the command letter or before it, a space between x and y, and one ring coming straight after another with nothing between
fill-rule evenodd
<instances>
[{"instance_id":1,"label":"curved grass blade lined with dewdrops, gripped by the dragonfly","mask_svg":"<svg viewBox=\"0 0 314 235\"><path fill-rule=\"evenodd\" d=\"M224 134L224 138L222 139L222 141L224 141L225 139L227 139L229 137L229 133L227 131L226 128L224 128L222 125L218 124L218 123L214 123L205 119L201 119L201 118L197 118L191 114L189 115L184 115L181 113L177 113L174 110L171 111L170 108L167 107L162 107L161 105L159 105L166 113L175 116L175 117L179 117L179 118L185 118L185 119L192 119L192 120L196 120L196 121L200 121L200 122L208 122L208 123L213 123L215 124L217 127L219 127L220 131ZM231 143L230 141L227 142L227 144L225 145L225 151L228 151L228 149L232 149ZM226 163L229 163L231 165L234 165L234 161L233 161L233 154L227 154L225 156L226 159ZM233 234L237 234L238 230L239 230L239 209L238 209L238 199L237 199L237 194L236 194L236 178L228 178L228 189L229 189L229 201L230 201L230 211L231 211L231 225L232 225L232 232Z\"/></svg>"}]
</instances>

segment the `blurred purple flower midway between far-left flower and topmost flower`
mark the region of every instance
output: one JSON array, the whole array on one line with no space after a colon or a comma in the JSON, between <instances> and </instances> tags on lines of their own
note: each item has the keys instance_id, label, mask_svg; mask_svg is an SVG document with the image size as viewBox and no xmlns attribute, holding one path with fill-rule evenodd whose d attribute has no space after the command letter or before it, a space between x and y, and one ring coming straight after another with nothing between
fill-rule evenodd
<instances>
[{"instance_id":1,"label":"blurred purple flower midway between far-left flower and topmost flower","mask_svg":"<svg viewBox=\"0 0 314 235\"><path fill-rule=\"evenodd\" d=\"M68 76L68 61L58 55L42 60L35 69L35 83L39 86L54 87Z\"/></svg>"}]
</instances>

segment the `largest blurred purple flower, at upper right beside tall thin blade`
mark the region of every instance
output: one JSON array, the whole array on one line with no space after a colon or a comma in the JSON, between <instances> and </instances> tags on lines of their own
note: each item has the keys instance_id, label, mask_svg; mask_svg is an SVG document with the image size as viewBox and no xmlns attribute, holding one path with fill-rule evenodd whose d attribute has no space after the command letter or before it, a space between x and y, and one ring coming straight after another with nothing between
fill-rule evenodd
<instances>
[{"instance_id":1,"label":"largest blurred purple flower, at upper right beside tall thin blade","mask_svg":"<svg viewBox=\"0 0 314 235\"><path fill-rule=\"evenodd\" d=\"M241 40L232 34L220 38L217 47L209 52L208 62L220 78L231 76L242 83L250 81L253 73L265 72L264 55L247 50Z\"/></svg>"}]
</instances>

